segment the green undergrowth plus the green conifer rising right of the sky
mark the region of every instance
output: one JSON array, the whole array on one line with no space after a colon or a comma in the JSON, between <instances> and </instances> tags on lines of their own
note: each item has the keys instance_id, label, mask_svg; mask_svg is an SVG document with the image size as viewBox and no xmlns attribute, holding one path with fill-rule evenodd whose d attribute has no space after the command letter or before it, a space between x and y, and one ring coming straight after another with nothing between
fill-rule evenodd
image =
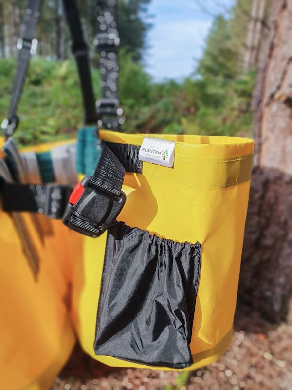
<instances>
[{"instance_id":1,"label":"green undergrowth plus the green conifer rising right of the sky","mask_svg":"<svg viewBox=\"0 0 292 390\"><path fill-rule=\"evenodd\" d=\"M137 49L134 50L134 43L132 50L124 45L120 51L124 132L250 134L249 102L255 77L253 71L244 73L242 69L243 31L248 18L238 7L234 7L229 18L215 19L197 69L182 82L153 82L137 62L143 48L142 36ZM97 63L94 56L92 63ZM0 59L0 118L6 117L14 69L13 59ZM92 76L99 98L97 69ZM73 60L34 59L18 113L20 125L15 139L20 145L74 137L82 125L83 109Z\"/></svg>"}]
</instances>

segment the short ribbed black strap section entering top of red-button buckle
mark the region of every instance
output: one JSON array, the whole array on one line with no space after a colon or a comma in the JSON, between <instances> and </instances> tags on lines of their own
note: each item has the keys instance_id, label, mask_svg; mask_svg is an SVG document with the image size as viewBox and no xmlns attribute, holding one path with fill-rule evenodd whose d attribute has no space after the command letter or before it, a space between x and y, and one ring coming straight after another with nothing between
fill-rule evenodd
<instances>
[{"instance_id":1,"label":"short ribbed black strap section entering top of red-button buckle","mask_svg":"<svg viewBox=\"0 0 292 390\"><path fill-rule=\"evenodd\" d=\"M103 143L101 155L91 178L91 186L110 195L120 195L125 168L112 151Z\"/></svg>"}]
</instances>

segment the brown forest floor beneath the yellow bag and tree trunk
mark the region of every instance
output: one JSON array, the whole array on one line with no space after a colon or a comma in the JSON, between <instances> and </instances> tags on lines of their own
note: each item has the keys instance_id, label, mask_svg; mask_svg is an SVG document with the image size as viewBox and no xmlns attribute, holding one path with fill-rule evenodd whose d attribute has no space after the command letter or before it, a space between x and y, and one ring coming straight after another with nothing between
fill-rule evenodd
<instances>
[{"instance_id":1,"label":"brown forest floor beneath the yellow bag and tree trunk","mask_svg":"<svg viewBox=\"0 0 292 390\"><path fill-rule=\"evenodd\" d=\"M51 390L292 390L292 306L281 324L237 308L234 328L219 361L190 374L110 368L76 346Z\"/></svg>"}]
</instances>

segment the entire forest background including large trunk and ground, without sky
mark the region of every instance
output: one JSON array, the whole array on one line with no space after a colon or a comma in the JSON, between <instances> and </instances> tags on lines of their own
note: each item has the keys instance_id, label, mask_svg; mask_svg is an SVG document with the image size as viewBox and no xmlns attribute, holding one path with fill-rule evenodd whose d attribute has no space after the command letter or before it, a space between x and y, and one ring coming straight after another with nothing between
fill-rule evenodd
<instances>
[{"instance_id":1,"label":"entire forest background including large trunk and ground, without sky","mask_svg":"<svg viewBox=\"0 0 292 390\"><path fill-rule=\"evenodd\" d=\"M123 131L255 139L232 343L218 362L183 374L110 369L77 346L53 390L292 389L292 0L234 0L229 9L214 0L222 10L215 16L210 1L190 1L213 18L202 56L188 77L157 82L145 66L151 1L118 0ZM95 3L83 0L79 8L99 98ZM8 111L23 10L23 0L0 0L0 118ZM18 110L19 146L75 137L82 126L61 0L44 2L37 37Z\"/></svg>"}]
</instances>

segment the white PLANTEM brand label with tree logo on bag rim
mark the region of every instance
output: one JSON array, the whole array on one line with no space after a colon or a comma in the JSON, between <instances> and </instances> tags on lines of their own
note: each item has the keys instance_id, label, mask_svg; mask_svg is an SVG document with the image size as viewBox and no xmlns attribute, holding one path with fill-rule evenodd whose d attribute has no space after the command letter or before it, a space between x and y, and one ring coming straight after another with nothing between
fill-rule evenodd
<instances>
[{"instance_id":1,"label":"white PLANTEM brand label with tree logo on bag rim","mask_svg":"<svg viewBox=\"0 0 292 390\"><path fill-rule=\"evenodd\" d=\"M171 168L174 162L174 141L144 137L139 150L139 160Z\"/></svg>"}]
</instances>

